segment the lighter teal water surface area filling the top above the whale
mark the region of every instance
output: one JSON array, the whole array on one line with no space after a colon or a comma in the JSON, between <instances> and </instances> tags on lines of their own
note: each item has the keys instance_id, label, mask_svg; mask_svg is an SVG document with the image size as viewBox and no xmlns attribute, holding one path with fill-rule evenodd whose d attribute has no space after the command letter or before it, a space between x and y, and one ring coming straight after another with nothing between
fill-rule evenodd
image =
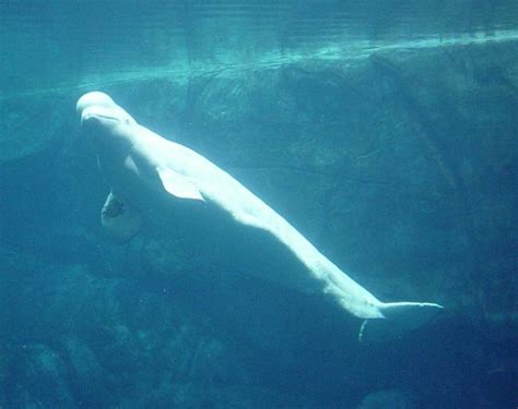
<instances>
[{"instance_id":1,"label":"lighter teal water surface area filling the top above the whale","mask_svg":"<svg viewBox=\"0 0 518 409\"><path fill-rule=\"evenodd\" d=\"M518 2L497 0L3 0L0 91L516 39Z\"/></svg>"}]
</instances>

